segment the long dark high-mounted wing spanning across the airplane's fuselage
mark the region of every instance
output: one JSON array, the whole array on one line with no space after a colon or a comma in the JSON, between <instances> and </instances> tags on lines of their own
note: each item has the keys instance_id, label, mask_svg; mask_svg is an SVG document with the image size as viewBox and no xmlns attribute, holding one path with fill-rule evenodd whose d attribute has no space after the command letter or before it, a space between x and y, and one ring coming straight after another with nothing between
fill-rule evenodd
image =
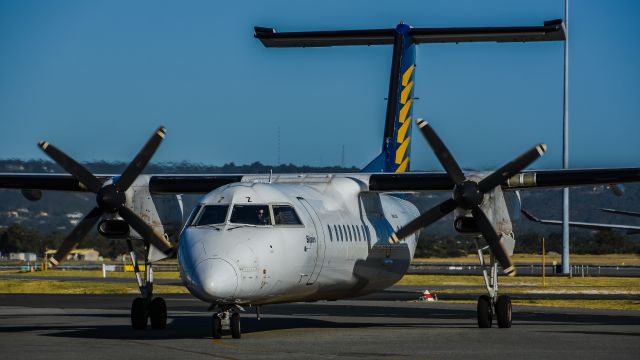
<instances>
[{"instance_id":1,"label":"long dark high-mounted wing spanning across the airplane's fuselage","mask_svg":"<svg viewBox=\"0 0 640 360\"><path fill-rule=\"evenodd\" d=\"M451 191L453 182L445 172L323 174L323 178L349 177L368 184L369 191ZM101 181L118 175L97 175ZM149 176L152 193L205 194L226 184L255 181L271 175L249 174L158 174ZM274 179L299 177L299 174L273 174ZM518 173L502 184L503 190L562 188L582 185L608 185L640 182L640 168L538 170ZM88 191L73 176L66 174L0 173L0 189Z\"/></svg>"}]
</instances>

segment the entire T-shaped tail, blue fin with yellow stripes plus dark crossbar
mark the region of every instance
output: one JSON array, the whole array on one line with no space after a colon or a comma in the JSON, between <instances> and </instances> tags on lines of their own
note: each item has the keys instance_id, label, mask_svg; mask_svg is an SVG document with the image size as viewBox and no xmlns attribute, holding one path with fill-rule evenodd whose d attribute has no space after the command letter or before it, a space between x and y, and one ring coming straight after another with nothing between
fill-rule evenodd
<instances>
[{"instance_id":1,"label":"entire T-shaped tail, blue fin with yellow stripes plus dark crossbar","mask_svg":"<svg viewBox=\"0 0 640 360\"><path fill-rule=\"evenodd\" d=\"M266 47L393 45L382 153L363 172L409 171L416 44L566 39L562 20L545 21L542 26L412 28L401 23L395 29L285 33L256 26L254 36Z\"/></svg>"}]
</instances>

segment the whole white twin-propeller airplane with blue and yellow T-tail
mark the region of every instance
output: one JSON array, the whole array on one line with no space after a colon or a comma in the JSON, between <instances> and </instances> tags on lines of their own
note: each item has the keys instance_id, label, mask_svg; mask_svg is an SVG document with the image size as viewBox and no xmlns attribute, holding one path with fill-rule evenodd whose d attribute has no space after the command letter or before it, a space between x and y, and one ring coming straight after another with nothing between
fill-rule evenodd
<instances>
[{"instance_id":1,"label":"whole white twin-propeller airplane with blue and yellow T-tail","mask_svg":"<svg viewBox=\"0 0 640 360\"><path fill-rule=\"evenodd\" d=\"M0 174L0 188L29 200L43 190L96 194L96 206L51 259L63 261L96 224L108 238L127 238L141 296L131 306L135 329L166 326L167 308L153 295L153 262L177 253L189 291L211 304L212 336L241 336L245 306L336 300L383 290L407 271L418 233L454 213L453 227L476 239L488 295L478 299L478 326L510 327L511 300L498 294L498 267L515 274L514 236L504 191L640 181L640 168L523 171L546 150L533 146L493 173L465 173L435 130L417 120L445 172L409 173L415 46L440 42L560 41L560 20L542 26L412 28L278 33L255 29L266 47L393 45L382 152L361 173L141 175L165 136L159 128L122 175L93 175L55 146L40 148L71 175ZM394 193L447 191L452 197L420 214ZM185 222L180 194L205 194ZM133 231L131 231L131 229ZM131 238L145 244L144 274ZM486 244L486 245L485 245ZM491 254L484 263L483 254Z\"/></svg>"}]
</instances>

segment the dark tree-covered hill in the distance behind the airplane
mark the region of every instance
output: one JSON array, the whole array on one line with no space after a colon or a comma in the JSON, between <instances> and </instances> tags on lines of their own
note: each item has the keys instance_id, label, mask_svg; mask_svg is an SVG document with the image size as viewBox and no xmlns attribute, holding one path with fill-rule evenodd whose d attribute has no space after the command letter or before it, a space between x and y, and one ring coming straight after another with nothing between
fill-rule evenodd
<instances>
[{"instance_id":1,"label":"dark tree-covered hill in the distance behind the airplane","mask_svg":"<svg viewBox=\"0 0 640 360\"><path fill-rule=\"evenodd\" d=\"M85 166L96 174L119 174L126 166L122 162L88 162ZM311 167L285 165L265 165L255 162L249 165L236 165L234 163L222 166L204 165L189 162L180 163L160 163L150 164L145 173L167 174L167 173L187 173L187 174L238 174L238 173L344 173L358 172L355 167L343 168L339 166L331 167ZM56 164L45 160L0 160L0 172L23 172L23 173L64 173ZM560 219L562 214L562 190L560 189L539 189L521 191L523 207L543 218ZM415 193L403 194L404 198L412 201L420 211L426 211L432 206L443 201L450 196L448 193ZM513 193L507 195L512 203L515 203ZM185 213L197 202L198 196L184 196ZM640 211L640 185L625 185L625 194L621 197L615 196L605 186L580 187L571 190L570 217L572 220L609 222L640 225L640 219L625 217L622 215L604 214L599 208L609 207L626 210ZM41 233L52 231L67 232L72 227L72 222L82 214L85 214L94 206L94 196L87 193L62 193L47 192L42 199L37 202L27 201L19 191L0 190L0 226L9 226L20 223L28 228L33 228ZM511 212L516 238L522 234L536 234L536 236L551 236L557 238L561 232L559 227L545 226L532 223L520 217L516 207ZM185 215L186 216L186 215ZM421 239L427 241L431 237L455 237L458 241L461 238L455 236L453 231L452 218L449 215L438 221L428 232L423 232ZM589 237L593 232L590 230L572 230L573 237ZM624 233L620 233L626 238ZM638 236L631 236L629 239L638 242ZM443 240L444 241L444 240Z\"/></svg>"}]
</instances>

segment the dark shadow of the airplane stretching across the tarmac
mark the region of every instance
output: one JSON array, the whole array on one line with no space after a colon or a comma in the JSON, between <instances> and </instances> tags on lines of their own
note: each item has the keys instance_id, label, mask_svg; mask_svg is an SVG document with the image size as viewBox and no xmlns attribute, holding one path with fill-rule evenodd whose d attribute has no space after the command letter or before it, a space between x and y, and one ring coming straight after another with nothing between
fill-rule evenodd
<instances>
[{"instance_id":1,"label":"dark shadow of the airplane stretching across the tarmac","mask_svg":"<svg viewBox=\"0 0 640 360\"><path fill-rule=\"evenodd\" d=\"M130 297L123 296L126 301ZM43 332L41 336L54 336L63 338L89 338L89 339L127 339L127 340L161 340L161 339L205 339L210 338L211 315L203 311L203 303L169 300L169 324L165 330L134 331L129 326L128 313L101 313L87 309L83 313L55 313L19 315L9 314L0 316L0 327L3 332ZM180 300L180 299L178 299ZM4 305L4 301L0 301ZM93 304L97 305L97 304ZM104 308L112 308L104 303ZM178 306L173 306L178 305ZM289 329L356 329L356 328L475 328L476 312L472 306L381 306L358 305L352 303L294 303L285 305L265 306L262 320L257 320L251 313L245 313L242 318L243 333L266 333L276 330ZM24 306L24 305L23 305ZM49 305L52 306L51 304ZM43 307L43 306L40 306ZM181 309L181 310L178 310ZM179 314L179 312L191 311L192 314ZM173 312L173 314L172 314ZM178 314L176 314L178 313ZM13 321L2 319L33 318L31 323L38 323L39 317L59 318L55 324L17 325L11 326ZM74 320L64 321L62 318L84 318L77 325ZM548 309L523 309L514 312L514 327L539 326L538 332L575 333L592 335L614 336L640 336L640 332L598 332L598 331L559 331L559 325L590 325L594 329L598 325L637 325L640 324L640 314L590 314L588 310L576 313L562 313L561 311L549 311ZM92 325L92 318L96 325ZM121 325L105 324L99 319L120 319ZM334 321L341 318L344 321ZM386 322L384 319L393 319ZM111 320L111 321L112 321ZM59 325L66 323L65 325ZM73 325L67 325L72 323ZM226 334L225 336L228 336Z\"/></svg>"}]
</instances>

